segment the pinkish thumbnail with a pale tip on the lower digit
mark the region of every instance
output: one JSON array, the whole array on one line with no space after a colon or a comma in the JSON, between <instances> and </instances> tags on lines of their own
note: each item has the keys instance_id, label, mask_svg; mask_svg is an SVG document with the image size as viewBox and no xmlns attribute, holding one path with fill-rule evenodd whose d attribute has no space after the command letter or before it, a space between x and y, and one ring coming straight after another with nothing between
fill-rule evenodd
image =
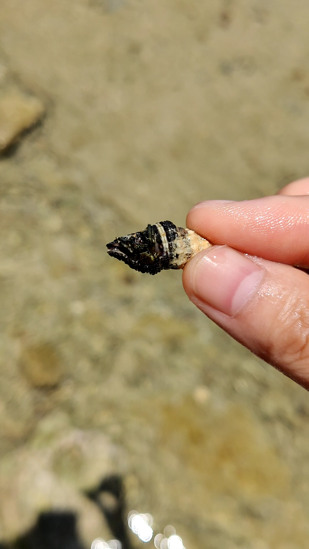
<instances>
[{"instance_id":1,"label":"pinkish thumbnail with a pale tip on the lower digit","mask_svg":"<svg viewBox=\"0 0 309 549\"><path fill-rule=\"evenodd\" d=\"M228 246L214 246L190 262L196 297L231 317L260 287L263 267Z\"/></svg>"}]
</instances>

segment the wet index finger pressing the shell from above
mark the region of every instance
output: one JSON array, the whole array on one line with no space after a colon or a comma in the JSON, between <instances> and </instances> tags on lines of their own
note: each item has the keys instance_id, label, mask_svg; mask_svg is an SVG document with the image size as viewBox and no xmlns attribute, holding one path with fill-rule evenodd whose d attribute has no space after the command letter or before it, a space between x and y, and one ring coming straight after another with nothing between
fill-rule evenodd
<instances>
[{"instance_id":1,"label":"wet index finger pressing the shell from above","mask_svg":"<svg viewBox=\"0 0 309 549\"><path fill-rule=\"evenodd\" d=\"M288 265L309 266L309 195L201 202L186 225L213 244Z\"/></svg>"}]
</instances>

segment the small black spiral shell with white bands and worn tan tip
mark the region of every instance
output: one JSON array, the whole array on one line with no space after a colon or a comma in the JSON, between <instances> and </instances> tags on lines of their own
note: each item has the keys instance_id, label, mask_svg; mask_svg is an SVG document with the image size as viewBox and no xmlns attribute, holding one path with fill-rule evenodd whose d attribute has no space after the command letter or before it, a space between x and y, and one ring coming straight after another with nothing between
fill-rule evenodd
<instances>
[{"instance_id":1,"label":"small black spiral shell with white bands and worn tan tip","mask_svg":"<svg viewBox=\"0 0 309 549\"><path fill-rule=\"evenodd\" d=\"M156 275L164 269L182 269L198 251L212 244L190 229L172 221L147 225L144 231L117 237L107 244L107 253L142 273Z\"/></svg>"}]
</instances>

